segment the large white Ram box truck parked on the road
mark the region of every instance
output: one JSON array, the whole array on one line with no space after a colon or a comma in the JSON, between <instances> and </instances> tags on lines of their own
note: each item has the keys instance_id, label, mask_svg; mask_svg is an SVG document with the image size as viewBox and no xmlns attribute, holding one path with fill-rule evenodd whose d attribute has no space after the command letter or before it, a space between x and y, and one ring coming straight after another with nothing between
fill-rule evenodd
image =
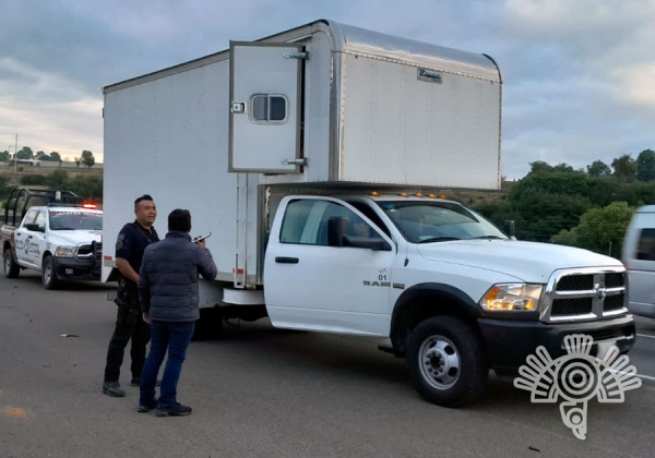
<instances>
[{"instance_id":1,"label":"large white Ram box truck parked on the road","mask_svg":"<svg viewBox=\"0 0 655 458\"><path fill-rule=\"evenodd\" d=\"M487 55L323 20L109 85L103 281L150 193L158 226L179 207L213 232L200 334L269 317L360 336L450 407L570 334L628 352L619 261L517 241L442 198L500 188L501 87Z\"/></svg>"}]
</instances>

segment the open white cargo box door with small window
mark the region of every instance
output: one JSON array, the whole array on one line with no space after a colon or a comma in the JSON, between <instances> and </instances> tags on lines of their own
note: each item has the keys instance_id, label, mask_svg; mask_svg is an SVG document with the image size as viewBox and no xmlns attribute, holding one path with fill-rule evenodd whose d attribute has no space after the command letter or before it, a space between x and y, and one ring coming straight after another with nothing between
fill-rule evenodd
<instances>
[{"instance_id":1,"label":"open white cargo box door with small window","mask_svg":"<svg viewBox=\"0 0 655 458\"><path fill-rule=\"evenodd\" d=\"M299 171L302 46L230 41L231 172Z\"/></svg>"}]
</instances>

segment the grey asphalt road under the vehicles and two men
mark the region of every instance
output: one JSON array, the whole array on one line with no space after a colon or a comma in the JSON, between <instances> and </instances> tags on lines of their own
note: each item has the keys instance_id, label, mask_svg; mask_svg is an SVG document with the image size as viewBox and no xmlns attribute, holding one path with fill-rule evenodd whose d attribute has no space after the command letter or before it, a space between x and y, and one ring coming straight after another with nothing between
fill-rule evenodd
<instances>
[{"instance_id":1,"label":"grey asphalt road under the vehicles and two men","mask_svg":"<svg viewBox=\"0 0 655 458\"><path fill-rule=\"evenodd\" d=\"M444 409L422 401L404 362L373 346L266 321L193 342L179 385L193 413L156 418L136 412L126 371L126 398L100 391L111 290L45 291L34 274L0 278L0 457L654 455L655 322L639 320L630 354L643 385L623 403L590 402L584 441L557 403L533 405L511 381L491 377L481 403Z\"/></svg>"}]
</instances>

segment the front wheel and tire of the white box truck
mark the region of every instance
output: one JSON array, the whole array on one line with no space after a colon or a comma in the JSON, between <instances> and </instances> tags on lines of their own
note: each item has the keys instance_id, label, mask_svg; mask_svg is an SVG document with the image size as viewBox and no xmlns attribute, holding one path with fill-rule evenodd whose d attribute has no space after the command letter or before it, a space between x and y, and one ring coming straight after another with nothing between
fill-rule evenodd
<instances>
[{"instance_id":1,"label":"front wheel and tire of the white box truck","mask_svg":"<svg viewBox=\"0 0 655 458\"><path fill-rule=\"evenodd\" d=\"M433 316L420 323L409 335L406 362L419 395L442 407L474 403L489 377L480 338L454 316Z\"/></svg>"}]
</instances>

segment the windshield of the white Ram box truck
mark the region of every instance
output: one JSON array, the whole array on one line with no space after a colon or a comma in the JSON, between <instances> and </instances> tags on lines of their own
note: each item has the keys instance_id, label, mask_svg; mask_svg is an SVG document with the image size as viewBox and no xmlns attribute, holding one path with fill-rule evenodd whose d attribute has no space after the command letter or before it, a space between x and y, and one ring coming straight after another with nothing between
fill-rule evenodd
<instances>
[{"instance_id":1,"label":"windshield of the white Ram box truck","mask_svg":"<svg viewBox=\"0 0 655 458\"><path fill-rule=\"evenodd\" d=\"M496 226L452 202L379 201L393 224L412 243L449 240L508 239Z\"/></svg>"}]
</instances>

